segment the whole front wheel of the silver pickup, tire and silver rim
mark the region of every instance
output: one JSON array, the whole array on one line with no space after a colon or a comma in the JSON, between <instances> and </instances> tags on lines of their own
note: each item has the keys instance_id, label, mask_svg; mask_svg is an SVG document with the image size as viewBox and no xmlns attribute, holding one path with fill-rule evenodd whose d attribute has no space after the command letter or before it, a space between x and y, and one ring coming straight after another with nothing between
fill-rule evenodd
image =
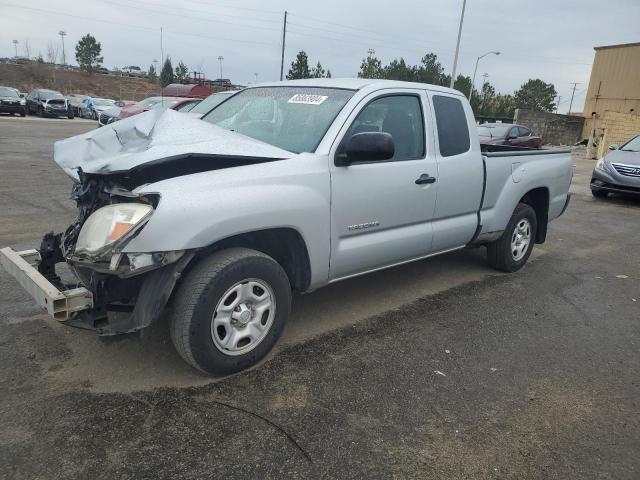
<instances>
[{"instance_id":1,"label":"whole front wheel of the silver pickup, tire and silver rim","mask_svg":"<svg viewBox=\"0 0 640 480\"><path fill-rule=\"evenodd\" d=\"M221 250L178 286L169 307L171 339L203 372L238 372L269 353L290 309L291 285L273 258L247 248Z\"/></svg>"}]
</instances>

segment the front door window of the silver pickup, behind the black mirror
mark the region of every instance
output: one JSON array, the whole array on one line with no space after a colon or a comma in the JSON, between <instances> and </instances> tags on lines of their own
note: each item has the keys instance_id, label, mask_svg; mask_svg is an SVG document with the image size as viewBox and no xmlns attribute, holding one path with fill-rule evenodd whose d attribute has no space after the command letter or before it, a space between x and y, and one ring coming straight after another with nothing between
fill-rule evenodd
<instances>
[{"instance_id":1,"label":"front door window of the silver pickup, behind the black mirror","mask_svg":"<svg viewBox=\"0 0 640 480\"><path fill-rule=\"evenodd\" d=\"M424 121L420 97L390 95L373 100L351 124L345 139L363 132L386 132L393 137L393 160L424 157Z\"/></svg>"}]
</instances>

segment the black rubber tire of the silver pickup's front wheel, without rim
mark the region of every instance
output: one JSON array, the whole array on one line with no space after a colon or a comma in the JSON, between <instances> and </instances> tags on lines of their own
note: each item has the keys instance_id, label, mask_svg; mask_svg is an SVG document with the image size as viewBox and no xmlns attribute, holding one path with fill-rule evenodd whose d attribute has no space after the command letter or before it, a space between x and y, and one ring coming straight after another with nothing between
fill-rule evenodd
<instances>
[{"instance_id":1,"label":"black rubber tire of the silver pickup's front wheel, without rim","mask_svg":"<svg viewBox=\"0 0 640 480\"><path fill-rule=\"evenodd\" d=\"M213 339L214 312L229 289L246 279L257 279L271 288L276 305L272 323L247 353L223 353ZM221 250L203 258L176 288L168 309L171 339L180 356L198 370L230 374L254 365L269 353L284 330L290 310L291 285L273 258L248 248ZM236 345L243 340L239 338Z\"/></svg>"}]
</instances>

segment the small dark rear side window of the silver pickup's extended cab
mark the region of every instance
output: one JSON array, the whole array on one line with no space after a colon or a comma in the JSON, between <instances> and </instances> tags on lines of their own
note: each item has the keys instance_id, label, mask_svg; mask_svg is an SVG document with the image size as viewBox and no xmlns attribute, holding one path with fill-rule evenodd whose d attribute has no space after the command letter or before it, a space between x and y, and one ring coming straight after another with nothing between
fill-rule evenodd
<instances>
[{"instance_id":1,"label":"small dark rear side window of the silver pickup's extended cab","mask_svg":"<svg viewBox=\"0 0 640 480\"><path fill-rule=\"evenodd\" d=\"M433 96L440 155L451 157L467 152L471 145L469 126L462 102L444 95Z\"/></svg>"}]
</instances>

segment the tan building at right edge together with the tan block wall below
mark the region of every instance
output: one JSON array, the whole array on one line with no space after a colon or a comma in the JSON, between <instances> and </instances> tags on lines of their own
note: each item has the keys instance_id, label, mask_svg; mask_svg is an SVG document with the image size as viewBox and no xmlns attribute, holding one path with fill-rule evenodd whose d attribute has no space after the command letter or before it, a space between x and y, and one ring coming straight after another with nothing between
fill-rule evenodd
<instances>
[{"instance_id":1,"label":"tan building at right edge together with the tan block wall below","mask_svg":"<svg viewBox=\"0 0 640 480\"><path fill-rule=\"evenodd\" d=\"M640 42L595 47L595 51L582 138L591 139L588 155L601 158L609 144L624 143L640 133Z\"/></svg>"}]
</instances>

